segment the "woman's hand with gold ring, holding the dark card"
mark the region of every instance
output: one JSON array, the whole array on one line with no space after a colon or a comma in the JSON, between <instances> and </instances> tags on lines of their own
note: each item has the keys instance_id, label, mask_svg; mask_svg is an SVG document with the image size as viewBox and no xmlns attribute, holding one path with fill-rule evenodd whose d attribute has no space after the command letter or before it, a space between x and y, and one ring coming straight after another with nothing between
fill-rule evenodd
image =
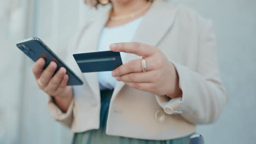
<instances>
[{"instance_id":1,"label":"woman's hand with gold ring, holding the dark card","mask_svg":"<svg viewBox=\"0 0 256 144\"><path fill-rule=\"evenodd\" d=\"M146 59L146 72L142 72L141 59L134 59L113 70L112 76L118 81L155 95L182 97L176 68L159 49L141 43L115 43L109 47L115 52L133 53Z\"/></svg>"}]
</instances>

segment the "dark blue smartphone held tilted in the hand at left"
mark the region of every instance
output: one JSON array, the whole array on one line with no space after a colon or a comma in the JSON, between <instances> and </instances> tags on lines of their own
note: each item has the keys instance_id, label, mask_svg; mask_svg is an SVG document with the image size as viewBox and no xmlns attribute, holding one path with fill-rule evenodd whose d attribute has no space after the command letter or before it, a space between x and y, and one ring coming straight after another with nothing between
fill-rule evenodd
<instances>
[{"instance_id":1,"label":"dark blue smartphone held tilted in the hand at left","mask_svg":"<svg viewBox=\"0 0 256 144\"><path fill-rule=\"evenodd\" d=\"M30 57L34 62L36 62L39 58L43 57L45 59L44 69L48 66L51 61L57 63L57 70L60 67L64 67L67 70L67 74L69 76L67 85L74 86L74 85L83 85L83 81L79 79L77 75L73 73L71 69L67 67L65 63L61 61L57 55L51 51L51 49L46 46L42 40L37 37L28 38L25 40L19 41L17 47L24 52L28 57ZM55 71L55 73L56 73Z\"/></svg>"}]
</instances>

